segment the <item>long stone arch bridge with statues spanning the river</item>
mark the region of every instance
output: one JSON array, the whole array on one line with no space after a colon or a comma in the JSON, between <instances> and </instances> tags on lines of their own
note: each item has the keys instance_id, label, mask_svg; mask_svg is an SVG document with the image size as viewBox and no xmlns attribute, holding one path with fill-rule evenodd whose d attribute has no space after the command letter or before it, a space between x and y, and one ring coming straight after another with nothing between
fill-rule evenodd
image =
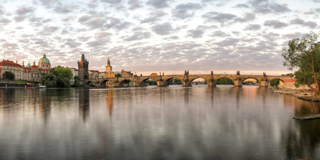
<instances>
[{"instance_id":1,"label":"long stone arch bridge with statues spanning the river","mask_svg":"<svg viewBox=\"0 0 320 160\"><path fill-rule=\"evenodd\" d=\"M89 87L90 84L94 84L96 87L106 87L106 82L111 81L114 83L114 87L123 86L126 80L133 83L133 86L143 86L144 82L148 79L156 81L157 86L167 86L167 82L177 78L181 81L182 86L192 86L192 81L196 78L203 78L207 81L208 86L216 86L216 82L220 78L229 78L234 83L234 86L242 86L242 82L246 79L252 78L257 80L257 83L261 87L268 87L268 84L273 79L279 79L284 83L285 79L289 79L289 76L267 76L267 75L164 75L164 76L131 76L131 77L112 77L112 78L96 78L84 80L84 86Z\"/></svg>"}]
</instances>

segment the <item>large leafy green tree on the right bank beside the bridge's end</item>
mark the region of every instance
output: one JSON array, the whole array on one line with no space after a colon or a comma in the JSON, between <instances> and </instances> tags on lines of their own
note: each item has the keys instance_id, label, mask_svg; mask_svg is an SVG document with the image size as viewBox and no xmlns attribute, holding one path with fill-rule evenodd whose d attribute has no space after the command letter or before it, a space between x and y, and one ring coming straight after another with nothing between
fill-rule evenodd
<instances>
[{"instance_id":1,"label":"large leafy green tree on the right bank beside the bridge's end","mask_svg":"<svg viewBox=\"0 0 320 160\"><path fill-rule=\"evenodd\" d=\"M309 32L301 38L289 41L289 49L283 48L284 66L289 70L299 68L296 72L295 85L307 85L319 94L320 82L320 50L318 42L319 34ZM312 87L316 84L316 87Z\"/></svg>"}]
</instances>

